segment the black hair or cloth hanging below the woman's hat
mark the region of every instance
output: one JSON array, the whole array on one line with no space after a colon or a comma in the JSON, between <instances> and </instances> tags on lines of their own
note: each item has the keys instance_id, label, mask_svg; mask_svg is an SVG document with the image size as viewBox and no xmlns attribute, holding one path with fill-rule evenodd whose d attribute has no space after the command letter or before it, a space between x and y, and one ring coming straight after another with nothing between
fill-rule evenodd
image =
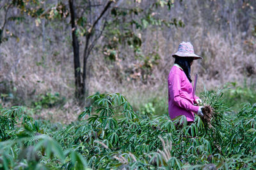
<instances>
[{"instance_id":1,"label":"black hair or cloth hanging below the woman's hat","mask_svg":"<svg viewBox=\"0 0 256 170\"><path fill-rule=\"evenodd\" d=\"M190 64L193 61L192 57L175 57L175 64L179 64L180 67L182 67L184 73L186 74L188 80L190 83L192 82L190 77Z\"/></svg>"}]
</instances>

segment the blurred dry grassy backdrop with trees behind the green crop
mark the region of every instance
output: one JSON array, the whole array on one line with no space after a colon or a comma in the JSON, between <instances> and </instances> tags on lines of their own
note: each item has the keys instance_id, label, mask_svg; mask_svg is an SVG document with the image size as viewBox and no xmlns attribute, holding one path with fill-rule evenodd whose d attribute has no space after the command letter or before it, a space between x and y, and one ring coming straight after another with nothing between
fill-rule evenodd
<instances>
[{"instance_id":1,"label":"blurred dry grassy backdrop with trees behind the green crop","mask_svg":"<svg viewBox=\"0 0 256 170\"><path fill-rule=\"evenodd\" d=\"M135 110L166 114L182 41L204 57L196 94L234 87L230 106L255 101L255 14L249 0L1 0L0 103L70 122L83 97L120 92Z\"/></svg>"}]
</instances>

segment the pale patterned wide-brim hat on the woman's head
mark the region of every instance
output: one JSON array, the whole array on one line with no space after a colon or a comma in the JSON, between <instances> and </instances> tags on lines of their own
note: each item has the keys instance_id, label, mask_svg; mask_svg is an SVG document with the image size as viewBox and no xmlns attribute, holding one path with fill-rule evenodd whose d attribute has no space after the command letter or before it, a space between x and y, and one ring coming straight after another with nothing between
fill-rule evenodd
<instances>
[{"instance_id":1,"label":"pale patterned wide-brim hat on the woman's head","mask_svg":"<svg viewBox=\"0 0 256 170\"><path fill-rule=\"evenodd\" d=\"M173 53L172 57L193 57L194 60L197 59L203 59L203 57L200 57L195 54L193 45L189 42L182 42L179 45L178 51L176 53Z\"/></svg>"}]
</instances>

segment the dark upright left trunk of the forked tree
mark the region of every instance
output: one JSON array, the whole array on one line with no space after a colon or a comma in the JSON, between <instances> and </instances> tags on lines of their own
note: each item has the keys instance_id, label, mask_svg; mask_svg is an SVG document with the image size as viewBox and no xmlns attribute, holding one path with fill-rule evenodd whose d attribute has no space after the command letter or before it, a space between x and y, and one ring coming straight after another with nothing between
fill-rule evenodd
<instances>
[{"instance_id":1,"label":"dark upright left trunk of the forked tree","mask_svg":"<svg viewBox=\"0 0 256 170\"><path fill-rule=\"evenodd\" d=\"M74 71L75 71L75 83L76 83L76 92L75 96L77 98L81 97L83 94L83 84L81 83L81 67L79 60L79 42L76 35L76 8L74 4L74 0L69 0L69 8L71 15L71 26L72 26L72 46L74 52Z\"/></svg>"}]
</instances>

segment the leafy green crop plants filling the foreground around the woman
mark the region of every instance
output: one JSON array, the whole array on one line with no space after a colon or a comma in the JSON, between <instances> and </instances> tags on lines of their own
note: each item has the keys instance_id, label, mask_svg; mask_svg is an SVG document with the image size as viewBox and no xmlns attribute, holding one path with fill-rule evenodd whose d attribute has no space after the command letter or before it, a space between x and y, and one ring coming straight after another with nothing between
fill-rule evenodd
<instances>
[{"instance_id":1,"label":"leafy green crop plants filling the foreground around the woman","mask_svg":"<svg viewBox=\"0 0 256 170\"><path fill-rule=\"evenodd\" d=\"M121 94L95 94L76 122L35 120L26 108L1 108L1 169L255 169L256 104L230 113L224 90L202 94L200 117L148 116Z\"/></svg>"}]
</instances>

